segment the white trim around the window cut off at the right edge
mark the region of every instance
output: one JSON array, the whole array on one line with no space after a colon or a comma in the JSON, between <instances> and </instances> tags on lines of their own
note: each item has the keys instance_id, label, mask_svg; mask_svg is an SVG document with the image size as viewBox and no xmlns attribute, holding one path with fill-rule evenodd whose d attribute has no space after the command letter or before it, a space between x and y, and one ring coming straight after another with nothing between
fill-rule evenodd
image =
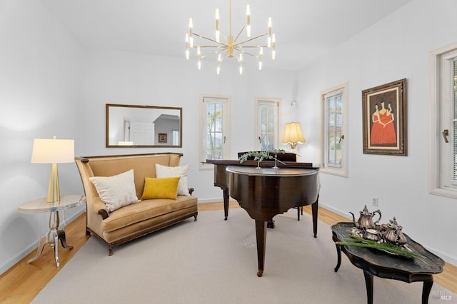
<instances>
[{"instance_id":1,"label":"white trim around the window cut off at the right edge","mask_svg":"<svg viewBox=\"0 0 457 304\"><path fill-rule=\"evenodd\" d=\"M443 159L441 152L443 144L443 136L441 129L443 126L442 108L450 106L451 101L441 101L443 83L443 66L441 60L449 54L457 52L457 43L443 46L439 49L431 51L429 54L429 75L430 75L430 130L428 136L428 193L445 196L448 198L457 198L457 188L448 188L443 186L441 179L443 178L442 167L447 165L447 161ZM443 102L449 104L442 104ZM446 161L446 163L442 163Z\"/></svg>"}]
</instances>

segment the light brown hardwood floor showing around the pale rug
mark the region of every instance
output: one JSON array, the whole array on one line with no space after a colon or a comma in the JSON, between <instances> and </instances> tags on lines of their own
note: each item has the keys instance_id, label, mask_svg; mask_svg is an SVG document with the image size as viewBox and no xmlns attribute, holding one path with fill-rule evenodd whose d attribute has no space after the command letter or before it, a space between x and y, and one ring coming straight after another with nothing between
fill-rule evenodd
<instances>
[{"instance_id":1,"label":"light brown hardwood floor showing around the pale rug","mask_svg":"<svg viewBox=\"0 0 457 304\"><path fill-rule=\"evenodd\" d=\"M231 202L230 208L239 208L238 203ZM223 204L200 203L199 212L222 210ZM303 212L311 214L310 206L303 208ZM324 208L319 208L318 218L320 221L333 225L348 218L338 216ZM34 263L27 264L26 260L34 257L36 250L31 252L19 263L0 275L0 303L30 303L42 288L59 272L61 268L78 252L90 236L86 235L86 213L81 214L65 228L66 239L74 249L67 250L59 247L60 268L56 268L54 251L46 245L41 257ZM457 267L446 264L443 273L433 275L435 283L457 293Z\"/></svg>"}]
</instances>

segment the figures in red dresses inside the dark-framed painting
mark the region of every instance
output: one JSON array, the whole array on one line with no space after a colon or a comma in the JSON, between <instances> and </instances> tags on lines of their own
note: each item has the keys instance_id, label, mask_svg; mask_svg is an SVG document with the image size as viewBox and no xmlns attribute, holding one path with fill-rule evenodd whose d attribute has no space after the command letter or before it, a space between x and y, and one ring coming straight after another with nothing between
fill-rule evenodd
<instances>
[{"instance_id":1,"label":"figures in red dresses inside the dark-framed painting","mask_svg":"<svg viewBox=\"0 0 457 304\"><path fill-rule=\"evenodd\" d=\"M378 110L378 106L376 105L376 111L372 116L373 126L371 127L370 137L370 143L372 145L397 143L395 128L393 127L393 119L394 116L390 103L388 104L388 109L384 107L384 101L381 101L381 110Z\"/></svg>"}]
</instances>

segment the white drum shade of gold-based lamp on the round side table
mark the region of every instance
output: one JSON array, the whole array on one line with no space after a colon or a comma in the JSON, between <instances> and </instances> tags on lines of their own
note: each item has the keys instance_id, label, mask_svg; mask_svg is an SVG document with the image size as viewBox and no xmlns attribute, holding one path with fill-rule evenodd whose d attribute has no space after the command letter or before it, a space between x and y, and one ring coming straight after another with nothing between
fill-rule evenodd
<instances>
[{"instance_id":1,"label":"white drum shade of gold-based lamp on the round side table","mask_svg":"<svg viewBox=\"0 0 457 304\"><path fill-rule=\"evenodd\" d=\"M73 139L34 139L31 163L71 163L74 161Z\"/></svg>"}]
</instances>

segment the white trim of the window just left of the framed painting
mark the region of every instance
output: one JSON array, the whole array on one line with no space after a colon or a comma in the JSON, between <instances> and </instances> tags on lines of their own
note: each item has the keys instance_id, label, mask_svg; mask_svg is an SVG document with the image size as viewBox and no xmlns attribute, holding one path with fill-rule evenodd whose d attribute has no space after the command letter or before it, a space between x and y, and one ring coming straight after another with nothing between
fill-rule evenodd
<instances>
[{"instance_id":1,"label":"white trim of the window just left of the framed painting","mask_svg":"<svg viewBox=\"0 0 457 304\"><path fill-rule=\"evenodd\" d=\"M326 166L326 96L333 92L341 91L342 96L342 126L341 134L343 137L343 146L341 148L341 153L343 156L341 158L341 168ZM320 93L321 97L321 172L328 173L335 176L348 177L348 146L349 146L349 134L348 134L348 82L341 83L338 86L333 86L328 88Z\"/></svg>"}]
</instances>

